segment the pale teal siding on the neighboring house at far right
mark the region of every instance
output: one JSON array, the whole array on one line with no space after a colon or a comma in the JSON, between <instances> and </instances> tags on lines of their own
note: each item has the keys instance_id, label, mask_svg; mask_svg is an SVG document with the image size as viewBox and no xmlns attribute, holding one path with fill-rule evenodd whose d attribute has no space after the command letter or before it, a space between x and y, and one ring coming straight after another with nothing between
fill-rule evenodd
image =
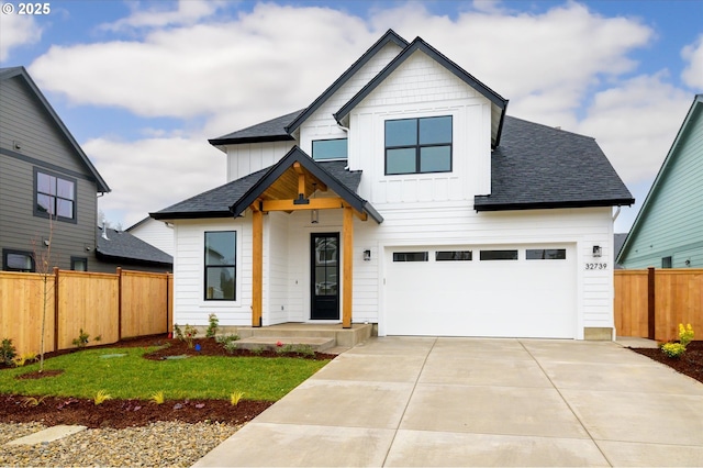
<instances>
[{"instance_id":1,"label":"pale teal siding on the neighboring house at far right","mask_svg":"<svg viewBox=\"0 0 703 468\"><path fill-rule=\"evenodd\" d=\"M692 115L673 151L631 241L625 268L659 268L669 256L673 268L703 268L703 112Z\"/></svg>"}]
</instances>

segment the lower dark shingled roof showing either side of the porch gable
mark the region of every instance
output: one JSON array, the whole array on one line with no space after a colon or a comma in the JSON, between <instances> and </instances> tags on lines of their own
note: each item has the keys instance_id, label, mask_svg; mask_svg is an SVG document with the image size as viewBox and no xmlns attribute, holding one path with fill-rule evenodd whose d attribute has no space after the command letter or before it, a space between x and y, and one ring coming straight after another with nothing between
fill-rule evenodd
<instances>
[{"instance_id":1,"label":"lower dark shingled roof showing either side of the porch gable","mask_svg":"<svg viewBox=\"0 0 703 468\"><path fill-rule=\"evenodd\" d=\"M346 160L331 160L316 163L339 182L356 193L361 181L361 171L345 169ZM272 167L272 166L271 166ZM230 207L244 197L271 167L249 174L196 197L183 200L149 215L156 220L188 220L201 218L232 218Z\"/></svg>"}]
</instances>

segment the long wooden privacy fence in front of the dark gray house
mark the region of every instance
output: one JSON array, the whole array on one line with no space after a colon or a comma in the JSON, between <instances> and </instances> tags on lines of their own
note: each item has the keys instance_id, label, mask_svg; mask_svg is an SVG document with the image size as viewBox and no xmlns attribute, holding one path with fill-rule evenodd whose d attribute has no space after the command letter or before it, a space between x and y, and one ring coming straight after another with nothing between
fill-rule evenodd
<instances>
[{"instance_id":1,"label":"long wooden privacy fence in front of the dark gray house","mask_svg":"<svg viewBox=\"0 0 703 468\"><path fill-rule=\"evenodd\" d=\"M80 330L88 346L167 333L172 325L171 274L97 274L54 269L52 275L0 271L0 339L18 353L72 348ZM100 342L94 338L100 336Z\"/></svg>"}]
</instances>

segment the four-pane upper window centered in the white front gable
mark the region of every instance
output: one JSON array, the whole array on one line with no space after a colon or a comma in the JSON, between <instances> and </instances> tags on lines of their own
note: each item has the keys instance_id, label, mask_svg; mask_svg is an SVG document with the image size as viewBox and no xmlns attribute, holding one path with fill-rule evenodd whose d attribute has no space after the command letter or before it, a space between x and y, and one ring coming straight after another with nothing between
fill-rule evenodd
<instances>
[{"instance_id":1,"label":"four-pane upper window centered in the white front gable","mask_svg":"<svg viewBox=\"0 0 703 468\"><path fill-rule=\"evenodd\" d=\"M386 121L386 174L451 171L451 115Z\"/></svg>"}]
</instances>

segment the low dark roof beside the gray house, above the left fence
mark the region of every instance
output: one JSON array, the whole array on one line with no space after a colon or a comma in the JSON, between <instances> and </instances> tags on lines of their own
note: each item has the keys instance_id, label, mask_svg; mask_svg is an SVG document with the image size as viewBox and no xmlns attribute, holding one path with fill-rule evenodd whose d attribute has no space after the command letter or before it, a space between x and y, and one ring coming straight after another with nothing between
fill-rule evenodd
<instances>
[{"instance_id":1,"label":"low dark roof beside the gray house, above the left fence","mask_svg":"<svg viewBox=\"0 0 703 468\"><path fill-rule=\"evenodd\" d=\"M154 247L141 238L124 231L107 229L108 238L103 237L103 227L97 227L99 257L121 260L136 260L148 264L174 265L174 257Z\"/></svg>"}]
</instances>

